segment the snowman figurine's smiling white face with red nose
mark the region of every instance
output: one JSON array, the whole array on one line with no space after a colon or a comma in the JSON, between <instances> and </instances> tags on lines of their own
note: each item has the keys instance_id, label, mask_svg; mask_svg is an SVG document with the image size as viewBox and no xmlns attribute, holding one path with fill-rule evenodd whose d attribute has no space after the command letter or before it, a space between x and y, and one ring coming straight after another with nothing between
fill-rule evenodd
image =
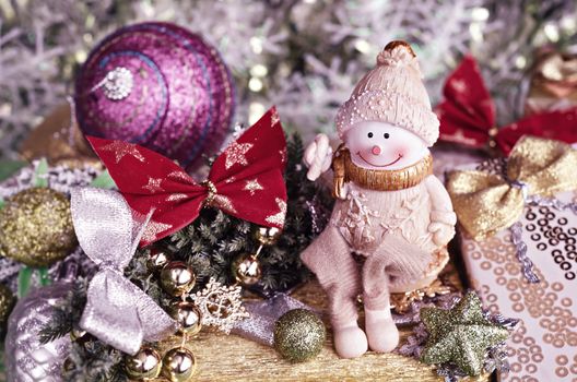
<instances>
[{"instance_id":1,"label":"snowman figurine's smiling white face with red nose","mask_svg":"<svg viewBox=\"0 0 577 382\"><path fill-rule=\"evenodd\" d=\"M356 123L345 133L344 144L356 166L373 170L404 168L428 154L421 138L385 122Z\"/></svg>"}]
</instances>

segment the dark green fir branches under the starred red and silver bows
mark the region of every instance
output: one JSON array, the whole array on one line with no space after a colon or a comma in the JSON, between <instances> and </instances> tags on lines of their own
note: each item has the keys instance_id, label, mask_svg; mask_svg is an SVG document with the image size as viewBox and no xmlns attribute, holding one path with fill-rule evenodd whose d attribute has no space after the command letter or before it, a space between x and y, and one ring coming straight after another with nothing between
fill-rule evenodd
<instances>
[{"instance_id":1,"label":"dark green fir branches under the starred red and silver bows","mask_svg":"<svg viewBox=\"0 0 577 382\"><path fill-rule=\"evenodd\" d=\"M327 223L332 198L328 190L306 180L306 168L301 165L303 142L298 135L287 141L287 215L284 232L279 242L266 247L261 255L263 277L260 282L264 290L290 288L302 283L308 271L302 264L299 254L318 235L314 229L309 204L315 203L317 225ZM174 260L190 264L197 275L197 290L210 277L224 284L233 284L232 263L243 253L257 250L252 231L257 227L248 222L224 214L222 211L204 208L198 219L178 232L156 243ZM157 273L146 267L150 249L137 251L125 270L125 276L142 288L152 299L165 309L172 303L160 285ZM43 329L43 343L68 334L80 321L86 301L86 282L80 280L69 295L56 307L52 320ZM91 338L83 344L73 343L69 356L69 368L64 379L71 382L126 382L121 353ZM67 365L68 365L67 363Z\"/></svg>"}]
</instances>

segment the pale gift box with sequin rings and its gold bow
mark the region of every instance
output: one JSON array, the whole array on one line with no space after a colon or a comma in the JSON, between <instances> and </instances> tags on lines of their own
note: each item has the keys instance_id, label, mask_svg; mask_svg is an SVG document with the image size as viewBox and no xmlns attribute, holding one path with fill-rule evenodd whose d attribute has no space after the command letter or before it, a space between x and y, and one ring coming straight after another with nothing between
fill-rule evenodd
<instances>
[{"instance_id":1,"label":"pale gift box with sequin rings and its gold bow","mask_svg":"<svg viewBox=\"0 0 577 382\"><path fill-rule=\"evenodd\" d=\"M577 378L577 150L523 138L447 176L471 286L520 319L501 381Z\"/></svg>"}]
</instances>

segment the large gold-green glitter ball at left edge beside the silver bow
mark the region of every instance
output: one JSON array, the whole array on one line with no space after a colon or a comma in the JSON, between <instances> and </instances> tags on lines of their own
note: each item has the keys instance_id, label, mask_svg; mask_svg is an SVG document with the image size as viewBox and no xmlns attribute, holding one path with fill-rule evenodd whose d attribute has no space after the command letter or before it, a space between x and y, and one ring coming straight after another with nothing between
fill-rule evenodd
<instances>
[{"instance_id":1,"label":"large gold-green glitter ball at left edge beside the silver bow","mask_svg":"<svg viewBox=\"0 0 577 382\"><path fill-rule=\"evenodd\" d=\"M70 201L52 189L10 196L0 211L0 254L30 266L48 266L76 247Z\"/></svg>"}]
</instances>

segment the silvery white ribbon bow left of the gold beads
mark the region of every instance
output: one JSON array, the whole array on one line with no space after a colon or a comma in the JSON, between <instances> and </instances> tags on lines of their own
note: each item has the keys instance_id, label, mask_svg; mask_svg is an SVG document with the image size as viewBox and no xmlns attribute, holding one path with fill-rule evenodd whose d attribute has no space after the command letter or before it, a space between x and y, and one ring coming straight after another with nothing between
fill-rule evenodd
<instances>
[{"instance_id":1,"label":"silvery white ribbon bow left of the gold beads","mask_svg":"<svg viewBox=\"0 0 577 382\"><path fill-rule=\"evenodd\" d=\"M150 215L139 222L115 191L82 188L71 195L80 246L99 267L89 286L80 327L130 355L143 339L160 341L174 333L175 322L168 314L122 274Z\"/></svg>"}]
</instances>

